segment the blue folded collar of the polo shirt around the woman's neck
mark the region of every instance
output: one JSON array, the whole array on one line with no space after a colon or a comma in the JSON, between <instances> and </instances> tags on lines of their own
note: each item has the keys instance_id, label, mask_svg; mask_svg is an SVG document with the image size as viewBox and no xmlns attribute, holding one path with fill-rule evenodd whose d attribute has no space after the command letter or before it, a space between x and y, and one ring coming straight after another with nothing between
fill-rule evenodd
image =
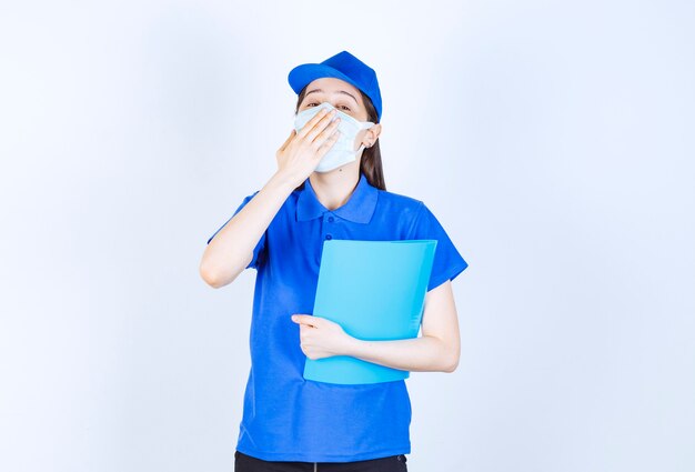
<instances>
[{"instance_id":1,"label":"blue folded collar of the polo shirt around the woman's neck","mask_svg":"<svg viewBox=\"0 0 695 472\"><path fill-rule=\"evenodd\" d=\"M379 189L370 184L364 173L360 172L357 187L355 187L348 202L332 210L332 212L342 219L355 223L369 223L372 219L372 214L374 214L377 197ZM309 178L306 178L304 188L300 191L300 197L296 202L296 221L313 220L314 218L321 217L326 211L331 210L319 201Z\"/></svg>"}]
</instances>

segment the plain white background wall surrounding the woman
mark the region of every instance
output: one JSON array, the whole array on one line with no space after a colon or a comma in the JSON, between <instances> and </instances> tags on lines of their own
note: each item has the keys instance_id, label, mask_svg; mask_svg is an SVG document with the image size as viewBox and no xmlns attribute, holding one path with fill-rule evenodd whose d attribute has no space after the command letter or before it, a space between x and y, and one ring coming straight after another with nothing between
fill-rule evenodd
<instances>
[{"instance_id":1,"label":"plain white background wall surrounding the woman","mask_svg":"<svg viewBox=\"0 0 695 472\"><path fill-rule=\"evenodd\" d=\"M383 96L387 190L466 269L409 468L695 470L695 7L0 7L0 469L232 471L255 271L208 238L275 170L296 64ZM316 432L320 434L320 432Z\"/></svg>"}]
</instances>

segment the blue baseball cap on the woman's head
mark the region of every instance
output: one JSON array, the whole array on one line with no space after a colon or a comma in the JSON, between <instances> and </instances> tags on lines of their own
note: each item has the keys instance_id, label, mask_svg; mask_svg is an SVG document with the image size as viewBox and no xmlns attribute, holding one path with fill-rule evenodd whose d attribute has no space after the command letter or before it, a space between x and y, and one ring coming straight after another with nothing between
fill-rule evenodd
<instances>
[{"instance_id":1,"label":"blue baseball cap on the woman's head","mask_svg":"<svg viewBox=\"0 0 695 472\"><path fill-rule=\"evenodd\" d=\"M355 58L348 51L339 52L321 63L296 66L290 71L288 80L298 96L313 80L334 77L360 89L372 100L376 116L381 121L381 91L374 69Z\"/></svg>"}]
</instances>

